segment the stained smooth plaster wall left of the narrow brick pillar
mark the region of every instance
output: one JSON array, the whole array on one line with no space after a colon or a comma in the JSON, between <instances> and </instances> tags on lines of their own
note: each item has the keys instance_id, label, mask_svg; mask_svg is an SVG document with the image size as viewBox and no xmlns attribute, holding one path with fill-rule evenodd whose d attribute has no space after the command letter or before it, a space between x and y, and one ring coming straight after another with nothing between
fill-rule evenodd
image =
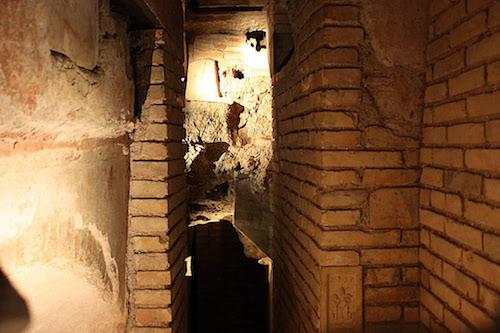
<instances>
[{"instance_id":1,"label":"stained smooth plaster wall left of the narrow brick pillar","mask_svg":"<svg viewBox=\"0 0 500 333\"><path fill-rule=\"evenodd\" d=\"M0 261L15 284L28 282L16 280L21 267L79 263L97 276L91 283L107 295L107 319L123 331L133 82L125 23L110 16L107 1L86 4L81 16L50 11L48 1L0 4ZM82 20L90 31L80 37L89 39L60 45Z\"/></svg>"}]
</instances>

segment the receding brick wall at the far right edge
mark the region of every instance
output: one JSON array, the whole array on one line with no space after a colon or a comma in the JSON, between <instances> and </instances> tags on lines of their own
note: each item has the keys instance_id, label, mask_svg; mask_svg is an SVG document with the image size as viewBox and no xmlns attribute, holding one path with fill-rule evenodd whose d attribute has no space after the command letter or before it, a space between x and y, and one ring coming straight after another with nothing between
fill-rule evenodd
<instances>
[{"instance_id":1,"label":"receding brick wall at the far right edge","mask_svg":"<svg viewBox=\"0 0 500 333\"><path fill-rule=\"evenodd\" d=\"M470 332L500 313L500 2L431 2L420 319Z\"/></svg>"}]
</instances>

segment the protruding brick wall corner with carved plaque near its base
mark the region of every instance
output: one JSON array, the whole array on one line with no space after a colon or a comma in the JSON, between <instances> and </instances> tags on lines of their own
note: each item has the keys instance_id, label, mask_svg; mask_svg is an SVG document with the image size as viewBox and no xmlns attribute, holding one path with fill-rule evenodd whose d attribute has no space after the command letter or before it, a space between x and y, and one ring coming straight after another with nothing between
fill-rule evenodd
<instances>
[{"instance_id":1,"label":"protruding brick wall corner with carved plaque near its base","mask_svg":"<svg viewBox=\"0 0 500 333\"><path fill-rule=\"evenodd\" d=\"M274 77L275 328L417 331L426 2L272 5L295 43Z\"/></svg>"}]
</instances>

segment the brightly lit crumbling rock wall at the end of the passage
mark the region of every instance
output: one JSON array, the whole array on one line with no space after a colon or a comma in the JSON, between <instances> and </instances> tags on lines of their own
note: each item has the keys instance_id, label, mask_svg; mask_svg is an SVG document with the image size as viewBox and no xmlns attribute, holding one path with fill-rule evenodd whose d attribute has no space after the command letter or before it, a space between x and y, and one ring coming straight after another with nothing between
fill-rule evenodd
<instances>
[{"instance_id":1,"label":"brightly lit crumbling rock wall at the end of the passage","mask_svg":"<svg viewBox=\"0 0 500 333\"><path fill-rule=\"evenodd\" d=\"M190 202L199 207L192 219L235 216L235 225L269 253L271 79L267 49L257 52L255 40L251 46L245 35L265 31L265 15L249 15L254 19L241 22L239 14L223 14L224 19L209 15L187 25L192 30L188 31L186 161ZM227 22L234 22L231 34L221 33L226 32ZM203 25L219 31L207 34L200 29ZM262 45L266 46L265 40Z\"/></svg>"}]
</instances>

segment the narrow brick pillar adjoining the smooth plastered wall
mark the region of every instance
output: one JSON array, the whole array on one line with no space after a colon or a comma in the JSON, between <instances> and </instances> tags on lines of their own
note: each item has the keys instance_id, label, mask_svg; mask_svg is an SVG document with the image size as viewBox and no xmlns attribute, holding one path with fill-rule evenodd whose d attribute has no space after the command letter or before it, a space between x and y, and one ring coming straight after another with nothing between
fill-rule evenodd
<instances>
[{"instance_id":1,"label":"narrow brick pillar adjoining the smooth plastered wall","mask_svg":"<svg viewBox=\"0 0 500 333\"><path fill-rule=\"evenodd\" d=\"M131 145L129 329L187 332L183 44L157 30L152 57L150 85Z\"/></svg>"}]
</instances>

